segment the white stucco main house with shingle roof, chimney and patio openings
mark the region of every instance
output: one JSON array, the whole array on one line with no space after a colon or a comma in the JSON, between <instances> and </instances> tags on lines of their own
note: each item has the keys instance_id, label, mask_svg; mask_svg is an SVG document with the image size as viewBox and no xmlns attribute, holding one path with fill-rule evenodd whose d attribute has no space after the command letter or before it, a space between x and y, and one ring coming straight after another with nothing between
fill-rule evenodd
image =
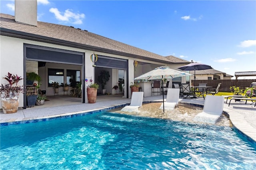
<instances>
[{"instance_id":1,"label":"white stucco main house with shingle roof, chimney and patio openings","mask_svg":"<svg viewBox=\"0 0 256 170\"><path fill-rule=\"evenodd\" d=\"M18 3L16 3L18 2ZM188 61L176 57L163 57L149 51L127 45L87 30L72 26L35 21L34 1L16 1L15 15L0 14L0 76L8 72L18 74L26 80L26 72L36 72L42 78L41 90L46 95L54 95L51 82L70 84L70 80L82 82L82 103L87 103L86 87L97 83L101 70L110 72L110 80L105 86L107 92L114 93L113 86L124 79L124 98L131 97L129 88L133 78L158 66L177 69ZM25 3L26 2L26 3ZM24 4L25 3L25 4ZM27 12L25 9L30 10ZM92 58L96 54L97 62ZM134 65L137 61L137 65ZM188 78L187 78L188 79ZM186 82L181 78L180 82ZM26 88L26 81L20 81ZM0 84L6 80L0 79ZM99 89L100 90L100 89ZM63 87L60 87L60 94ZM26 108L26 94L21 94L19 107Z\"/></svg>"}]
</instances>

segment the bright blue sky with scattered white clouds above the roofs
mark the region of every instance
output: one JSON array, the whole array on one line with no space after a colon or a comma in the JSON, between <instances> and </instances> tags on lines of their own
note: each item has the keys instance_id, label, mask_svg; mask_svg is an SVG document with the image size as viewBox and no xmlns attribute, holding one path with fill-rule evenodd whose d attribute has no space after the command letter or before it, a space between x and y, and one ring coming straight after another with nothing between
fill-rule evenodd
<instances>
[{"instance_id":1,"label":"bright blue sky with scattered white clouds above the roofs","mask_svg":"<svg viewBox=\"0 0 256 170\"><path fill-rule=\"evenodd\" d=\"M1 13L14 15L14 0L0 3ZM38 0L38 21L72 25L233 76L256 71L255 0Z\"/></svg>"}]
</instances>

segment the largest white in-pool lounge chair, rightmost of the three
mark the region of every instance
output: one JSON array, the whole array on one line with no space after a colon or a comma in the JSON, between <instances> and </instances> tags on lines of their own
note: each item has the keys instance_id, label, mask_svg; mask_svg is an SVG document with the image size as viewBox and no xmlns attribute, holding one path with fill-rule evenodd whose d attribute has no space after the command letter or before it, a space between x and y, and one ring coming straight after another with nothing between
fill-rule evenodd
<instances>
[{"instance_id":1,"label":"largest white in-pool lounge chair, rightmost of the three","mask_svg":"<svg viewBox=\"0 0 256 170\"><path fill-rule=\"evenodd\" d=\"M194 120L214 124L223 112L224 97L206 95L204 109Z\"/></svg>"}]
</instances>

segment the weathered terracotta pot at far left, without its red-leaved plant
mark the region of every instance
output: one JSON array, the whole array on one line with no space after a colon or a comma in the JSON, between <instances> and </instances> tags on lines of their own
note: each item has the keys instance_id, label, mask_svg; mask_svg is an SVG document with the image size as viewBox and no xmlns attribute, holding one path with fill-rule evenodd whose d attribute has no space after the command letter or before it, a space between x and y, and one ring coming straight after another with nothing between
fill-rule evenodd
<instances>
[{"instance_id":1,"label":"weathered terracotta pot at far left, without its red-leaved plant","mask_svg":"<svg viewBox=\"0 0 256 170\"><path fill-rule=\"evenodd\" d=\"M19 107L20 96L14 96L12 98L1 98L2 109L4 113L16 113Z\"/></svg>"}]
</instances>

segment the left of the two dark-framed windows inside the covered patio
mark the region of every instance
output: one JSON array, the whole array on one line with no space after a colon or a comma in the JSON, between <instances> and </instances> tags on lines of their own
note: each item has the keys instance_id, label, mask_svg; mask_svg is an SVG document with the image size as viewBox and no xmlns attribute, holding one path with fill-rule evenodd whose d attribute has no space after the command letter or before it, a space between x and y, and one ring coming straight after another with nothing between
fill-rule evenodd
<instances>
[{"instance_id":1,"label":"left of the two dark-framed windows inside the covered patio","mask_svg":"<svg viewBox=\"0 0 256 170\"><path fill-rule=\"evenodd\" d=\"M52 87L53 82L58 82L59 85L64 83L64 70L48 68L48 87Z\"/></svg>"}]
</instances>

